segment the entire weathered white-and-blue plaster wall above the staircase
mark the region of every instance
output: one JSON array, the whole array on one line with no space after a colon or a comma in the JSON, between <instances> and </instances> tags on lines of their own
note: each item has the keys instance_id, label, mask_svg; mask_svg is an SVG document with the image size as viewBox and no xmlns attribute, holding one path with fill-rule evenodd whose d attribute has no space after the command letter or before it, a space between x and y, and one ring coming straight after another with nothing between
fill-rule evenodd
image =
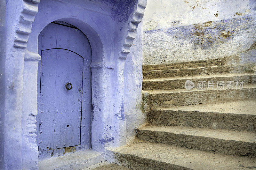
<instances>
[{"instance_id":1,"label":"entire weathered white-and-blue plaster wall above the staircase","mask_svg":"<svg viewBox=\"0 0 256 170\"><path fill-rule=\"evenodd\" d=\"M149 0L143 24L143 64L244 52L256 41L255 15L254 0Z\"/></svg>"}]
</instances>

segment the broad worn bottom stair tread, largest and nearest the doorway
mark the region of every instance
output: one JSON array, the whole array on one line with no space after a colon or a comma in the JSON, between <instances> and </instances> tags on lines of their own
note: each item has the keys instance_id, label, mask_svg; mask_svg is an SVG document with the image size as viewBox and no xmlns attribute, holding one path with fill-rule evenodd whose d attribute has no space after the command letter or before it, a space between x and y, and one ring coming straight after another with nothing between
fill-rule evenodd
<instances>
[{"instance_id":1,"label":"broad worn bottom stair tread, largest and nearest the doorway","mask_svg":"<svg viewBox=\"0 0 256 170\"><path fill-rule=\"evenodd\" d=\"M141 162L140 158L142 158L142 160L150 159L150 164L153 162L158 165L159 162L164 162L168 165L191 169L248 169L256 166L256 159L253 158L151 143L137 138L125 146L111 148L109 150L124 155L130 155L130 158L132 157L134 161L140 160Z\"/></svg>"}]
</instances>

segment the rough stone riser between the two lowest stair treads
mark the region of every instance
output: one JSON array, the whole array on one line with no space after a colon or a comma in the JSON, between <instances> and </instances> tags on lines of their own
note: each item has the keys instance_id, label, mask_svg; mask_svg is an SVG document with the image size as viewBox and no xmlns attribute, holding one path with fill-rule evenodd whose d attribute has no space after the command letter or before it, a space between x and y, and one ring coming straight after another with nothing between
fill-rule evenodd
<instances>
[{"instance_id":1,"label":"rough stone riser between the two lowest stair treads","mask_svg":"<svg viewBox=\"0 0 256 170\"><path fill-rule=\"evenodd\" d=\"M256 157L256 143L225 140L212 137L192 136L164 131L137 130L137 137L149 142L181 146L227 155Z\"/></svg>"}]
</instances>

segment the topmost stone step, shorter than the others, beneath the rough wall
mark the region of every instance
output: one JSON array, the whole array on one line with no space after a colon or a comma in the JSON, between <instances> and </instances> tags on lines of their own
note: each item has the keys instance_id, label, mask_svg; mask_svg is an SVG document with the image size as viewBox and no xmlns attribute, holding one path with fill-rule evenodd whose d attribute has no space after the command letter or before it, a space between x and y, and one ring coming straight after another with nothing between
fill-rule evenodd
<instances>
[{"instance_id":1,"label":"topmost stone step, shorter than the others, beneath the rough wall","mask_svg":"<svg viewBox=\"0 0 256 170\"><path fill-rule=\"evenodd\" d=\"M181 68L195 68L205 66L217 66L223 65L221 59L192 61L192 62L181 62L181 63L170 63L170 64L156 64L156 65L143 65L142 70L170 70L170 69L181 69Z\"/></svg>"}]
</instances>

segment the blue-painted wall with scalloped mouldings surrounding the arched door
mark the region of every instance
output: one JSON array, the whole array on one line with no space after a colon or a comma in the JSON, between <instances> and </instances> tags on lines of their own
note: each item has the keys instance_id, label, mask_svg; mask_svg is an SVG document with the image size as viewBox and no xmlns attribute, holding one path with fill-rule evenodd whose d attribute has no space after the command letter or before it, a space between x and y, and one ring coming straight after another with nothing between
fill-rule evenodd
<instances>
[{"instance_id":1,"label":"blue-painted wall with scalloped mouldings surrounding the arched door","mask_svg":"<svg viewBox=\"0 0 256 170\"><path fill-rule=\"evenodd\" d=\"M108 146L125 144L125 103L131 100L124 97L124 68L129 67L128 63L125 66L125 58L136 37L146 0L17 0L5 1L5 5L1 4L1 17L5 8L7 24L0 30L1 42L6 45L1 45L0 51L4 55L0 66L5 73L0 74L4 82L0 84L0 133L4 136L0 140L0 153L4 153L0 155L1 168L38 168L36 96L41 56L37 43L39 33L52 21L76 26L92 47L92 148L104 151Z\"/></svg>"}]
</instances>

